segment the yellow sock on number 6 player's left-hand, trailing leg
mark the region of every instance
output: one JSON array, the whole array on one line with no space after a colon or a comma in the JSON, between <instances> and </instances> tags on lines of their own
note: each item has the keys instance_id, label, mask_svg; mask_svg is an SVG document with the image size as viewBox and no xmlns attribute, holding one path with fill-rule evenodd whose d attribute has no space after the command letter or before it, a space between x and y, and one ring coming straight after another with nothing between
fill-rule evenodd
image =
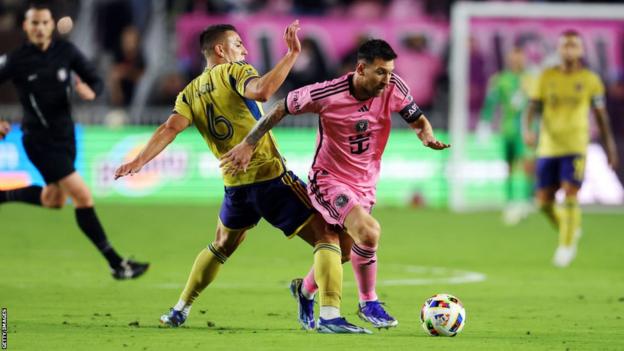
<instances>
[{"instance_id":1,"label":"yellow sock on number 6 player's left-hand, trailing leg","mask_svg":"<svg viewBox=\"0 0 624 351\"><path fill-rule=\"evenodd\" d=\"M227 256L217 251L212 244L203 249L193 263L191 274L184 287L180 300L191 305L199 294L210 284L225 263Z\"/></svg>"}]
</instances>

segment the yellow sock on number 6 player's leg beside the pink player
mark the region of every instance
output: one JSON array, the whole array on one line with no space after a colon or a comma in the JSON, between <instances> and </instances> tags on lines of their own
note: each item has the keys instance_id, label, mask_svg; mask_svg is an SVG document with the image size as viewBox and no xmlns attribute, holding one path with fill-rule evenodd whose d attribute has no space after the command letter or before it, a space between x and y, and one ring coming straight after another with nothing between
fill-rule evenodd
<instances>
[{"instance_id":1,"label":"yellow sock on number 6 player's leg beside the pink player","mask_svg":"<svg viewBox=\"0 0 624 351\"><path fill-rule=\"evenodd\" d=\"M319 286L319 304L340 308L342 300L342 254L340 246L321 243L314 247L314 277Z\"/></svg>"}]
</instances>

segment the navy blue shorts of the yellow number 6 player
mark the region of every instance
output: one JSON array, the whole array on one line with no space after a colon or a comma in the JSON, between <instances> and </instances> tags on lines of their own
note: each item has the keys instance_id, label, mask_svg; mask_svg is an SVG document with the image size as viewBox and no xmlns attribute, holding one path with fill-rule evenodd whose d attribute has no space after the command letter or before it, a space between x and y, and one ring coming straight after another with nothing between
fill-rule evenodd
<instances>
[{"instance_id":1,"label":"navy blue shorts of the yellow number 6 player","mask_svg":"<svg viewBox=\"0 0 624 351\"><path fill-rule=\"evenodd\" d=\"M293 172L261 183L225 187L219 218L230 229L245 229L264 218L286 236L297 234L314 214L306 184Z\"/></svg>"}]
</instances>

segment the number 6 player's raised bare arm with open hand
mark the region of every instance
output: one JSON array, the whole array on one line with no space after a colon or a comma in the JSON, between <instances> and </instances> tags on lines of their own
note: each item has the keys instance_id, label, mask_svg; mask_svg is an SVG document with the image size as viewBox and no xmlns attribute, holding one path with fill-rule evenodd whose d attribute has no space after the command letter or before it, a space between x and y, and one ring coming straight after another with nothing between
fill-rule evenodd
<instances>
[{"instance_id":1,"label":"number 6 player's raised bare arm with open hand","mask_svg":"<svg viewBox=\"0 0 624 351\"><path fill-rule=\"evenodd\" d=\"M284 41L288 47L288 52L282 59L260 78L251 80L245 87L245 97L248 99L265 102L282 86L286 76L292 69L299 53L301 52L301 43L297 37L299 20L295 20L284 31Z\"/></svg>"}]
</instances>

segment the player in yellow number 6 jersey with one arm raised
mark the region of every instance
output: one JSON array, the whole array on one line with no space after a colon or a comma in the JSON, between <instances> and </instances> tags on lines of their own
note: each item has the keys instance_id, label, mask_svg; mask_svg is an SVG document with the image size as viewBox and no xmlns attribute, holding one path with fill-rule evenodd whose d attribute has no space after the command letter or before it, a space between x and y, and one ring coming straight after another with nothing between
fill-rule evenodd
<instances>
[{"instance_id":1,"label":"player in yellow number 6 jersey with one arm raised","mask_svg":"<svg viewBox=\"0 0 624 351\"><path fill-rule=\"evenodd\" d=\"M134 160L115 171L116 177L139 172L191 124L217 158L241 142L262 116L258 101L266 101L275 93L295 63L301 51L298 30L298 21L286 28L287 54L260 76L243 61L247 50L233 26L221 24L205 29L200 34L205 71L180 92L169 119ZM342 254L338 236L326 229L322 217L312 209L305 184L287 170L273 136L267 134L258 142L246 173L223 173L223 181L225 195L216 238L197 256L178 303L161 317L161 322L171 327L184 323L194 300L244 240L247 230L264 218L285 235L299 235L314 246L315 273L321 277L320 313L329 321L319 325L318 331L370 333L340 316ZM315 328L314 320L300 322L305 329Z\"/></svg>"}]
</instances>

